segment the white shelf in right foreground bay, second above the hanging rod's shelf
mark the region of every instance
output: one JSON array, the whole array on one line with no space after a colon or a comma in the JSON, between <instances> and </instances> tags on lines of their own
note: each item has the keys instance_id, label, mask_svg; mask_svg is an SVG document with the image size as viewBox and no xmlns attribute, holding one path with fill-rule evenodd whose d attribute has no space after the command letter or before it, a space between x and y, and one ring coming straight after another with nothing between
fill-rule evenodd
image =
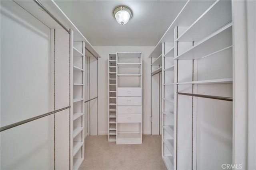
<instances>
[{"instance_id":1,"label":"white shelf in right foreground bay, second above the hanging rod's shelf","mask_svg":"<svg viewBox=\"0 0 256 170\"><path fill-rule=\"evenodd\" d=\"M230 22L232 20L231 14L231 1L216 1L176 41L200 41Z\"/></svg>"}]
</instances>

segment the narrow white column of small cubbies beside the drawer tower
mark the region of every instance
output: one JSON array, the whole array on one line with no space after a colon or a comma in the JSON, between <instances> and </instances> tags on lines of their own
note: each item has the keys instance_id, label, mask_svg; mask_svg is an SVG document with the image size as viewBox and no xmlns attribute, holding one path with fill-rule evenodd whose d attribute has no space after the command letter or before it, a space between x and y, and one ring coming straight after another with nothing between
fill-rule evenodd
<instances>
[{"instance_id":1,"label":"narrow white column of small cubbies beside the drawer tower","mask_svg":"<svg viewBox=\"0 0 256 170\"><path fill-rule=\"evenodd\" d=\"M108 141L116 141L116 54L108 55Z\"/></svg>"}]
</instances>

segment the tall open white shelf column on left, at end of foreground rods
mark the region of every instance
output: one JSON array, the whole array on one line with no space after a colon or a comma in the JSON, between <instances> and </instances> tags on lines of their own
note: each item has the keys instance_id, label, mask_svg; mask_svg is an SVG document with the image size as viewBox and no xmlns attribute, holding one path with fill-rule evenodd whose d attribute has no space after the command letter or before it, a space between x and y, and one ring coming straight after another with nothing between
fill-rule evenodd
<instances>
[{"instance_id":1,"label":"tall open white shelf column on left, at end of foreground rods","mask_svg":"<svg viewBox=\"0 0 256 170\"><path fill-rule=\"evenodd\" d=\"M73 42L73 170L84 160L85 42Z\"/></svg>"}]
</instances>

